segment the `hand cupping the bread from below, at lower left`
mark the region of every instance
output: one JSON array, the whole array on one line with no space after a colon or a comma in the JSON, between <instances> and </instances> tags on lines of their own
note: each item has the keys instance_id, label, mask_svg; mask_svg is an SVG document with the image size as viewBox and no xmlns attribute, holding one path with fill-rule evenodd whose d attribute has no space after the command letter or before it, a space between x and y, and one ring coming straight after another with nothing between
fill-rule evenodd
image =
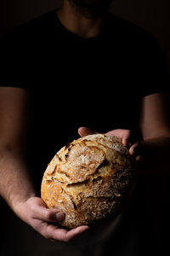
<instances>
[{"instance_id":1,"label":"hand cupping the bread from below, at lower left","mask_svg":"<svg viewBox=\"0 0 170 256\"><path fill-rule=\"evenodd\" d=\"M29 198L21 203L19 208L19 217L51 241L71 241L72 238L88 230L88 226L85 225L72 230L62 228L57 222L64 219L65 214L59 209L48 209L39 197Z\"/></svg>"}]
</instances>

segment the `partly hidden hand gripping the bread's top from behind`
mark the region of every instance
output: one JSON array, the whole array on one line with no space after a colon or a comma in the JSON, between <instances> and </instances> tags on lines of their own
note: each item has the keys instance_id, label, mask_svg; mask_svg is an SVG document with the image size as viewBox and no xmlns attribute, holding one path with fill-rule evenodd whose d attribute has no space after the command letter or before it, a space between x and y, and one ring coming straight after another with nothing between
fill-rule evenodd
<instances>
[{"instance_id":1,"label":"partly hidden hand gripping the bread's top from behind","mask_svg":"<svg viewBox=\"0 0 170 256\"><path fill-rule=\"evenodd\" d=\"M84 137L98 132L94 132L87 127L80 127L78 133L81 137ZM132 143L132 134L130 130L116 129L108 131L105 134L121 138L123 145L129 148L129 154L135 156L137 161L141 160L142 142L137 141Z\"/></svg>"}]
</instances>

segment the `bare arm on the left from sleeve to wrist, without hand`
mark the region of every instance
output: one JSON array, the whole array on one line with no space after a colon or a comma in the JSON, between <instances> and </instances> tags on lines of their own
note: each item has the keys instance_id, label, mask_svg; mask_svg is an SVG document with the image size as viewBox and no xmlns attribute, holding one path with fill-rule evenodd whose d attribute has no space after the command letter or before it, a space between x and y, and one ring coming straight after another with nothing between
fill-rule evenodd
<instances>
[{"instance_id":1,"label":"bare arm on the left from sleeve to wrist, without hand","mask_svg":"<svg viewBox=\"0 0 170 256\"><path fill-rule=\"evenodd\" d=\"M35 195L26 162L28 97L25 90L0 89L0 193L14 210L16 202Z\"/></svg>"}]
</instances>

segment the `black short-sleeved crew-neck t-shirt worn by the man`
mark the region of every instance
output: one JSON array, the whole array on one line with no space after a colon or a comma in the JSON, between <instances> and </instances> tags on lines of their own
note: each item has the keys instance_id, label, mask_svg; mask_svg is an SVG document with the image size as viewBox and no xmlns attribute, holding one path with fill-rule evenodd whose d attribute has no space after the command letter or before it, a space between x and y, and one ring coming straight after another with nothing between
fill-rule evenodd
<instances>
[{"instance_id":1,"label":"black short-sleeved crew-neck t-shirt worn by the man","mask_svg":"<svg viewBox=\"0 0 170 256\"><path fill-rule=\"evenodd\" d=\"M15 27L1 44L0 86L30 92L28 146L38 191L48 162L78 137L78 127L130 129L141 137L141 99L167 89L167 63L156 39L116 15L108 14L99 36L82 38L54 9Z\"/></svg>"}]
</instances>

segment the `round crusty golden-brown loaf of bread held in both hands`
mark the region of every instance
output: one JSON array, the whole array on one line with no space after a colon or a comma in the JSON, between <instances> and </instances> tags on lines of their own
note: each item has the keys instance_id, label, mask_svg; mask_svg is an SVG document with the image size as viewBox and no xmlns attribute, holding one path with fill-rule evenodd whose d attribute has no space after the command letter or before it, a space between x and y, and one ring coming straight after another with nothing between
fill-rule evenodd
<instances>
[{"instance_id":1,"label":"round crusty golden-brown loaf of bread held in both hands","mask_svg":"<svg viewBox=\"0 0 170 256\"><path fill-rule=\"evenodd\" d=\"M134 161L121 139L81 137L54 155L42 178L42 200L75 228L122 211L134 183Z\"/></svg>"}]
</instances>

